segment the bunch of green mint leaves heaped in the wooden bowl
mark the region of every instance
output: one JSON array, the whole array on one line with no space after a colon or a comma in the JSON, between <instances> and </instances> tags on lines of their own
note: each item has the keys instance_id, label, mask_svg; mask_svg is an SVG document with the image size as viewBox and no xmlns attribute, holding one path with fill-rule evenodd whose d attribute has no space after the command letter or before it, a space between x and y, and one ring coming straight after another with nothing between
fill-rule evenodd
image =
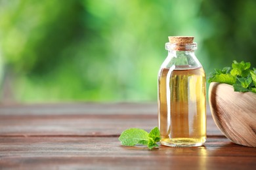
<instances>
[{"instance_id":1,"label":"bunch of green mint leaves heaped in the wooden bowl","mask_svg":"<svg viewBox=\"0 0 256 170\"><path fill-rule=\"evenodd\" d=\"M256 69L250 69L251 63L233 61L232 69L224 67L215 69L209 77L209 82L221 82L230 84L235 92L253 92L256 93Z\"/></svg>"}]
</instances>

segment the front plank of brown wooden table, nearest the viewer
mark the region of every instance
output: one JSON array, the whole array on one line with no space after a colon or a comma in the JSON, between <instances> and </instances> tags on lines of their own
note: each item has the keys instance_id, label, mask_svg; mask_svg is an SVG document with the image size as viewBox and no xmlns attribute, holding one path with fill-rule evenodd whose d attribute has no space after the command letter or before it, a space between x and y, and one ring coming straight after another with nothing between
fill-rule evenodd
<instances>
[{"instance_id":1,"label":"front plank of brown wooden table, nearest the viewer","mask_svg":"<svg viewBox=\"0 0 256 170\"><path fill-rule=\"evenodd\" d=\"M121 146L117 137L0 137L0 165L21 169L251 169L256 148L209 137L204 146Z\"/></svg>"}]
</instances>

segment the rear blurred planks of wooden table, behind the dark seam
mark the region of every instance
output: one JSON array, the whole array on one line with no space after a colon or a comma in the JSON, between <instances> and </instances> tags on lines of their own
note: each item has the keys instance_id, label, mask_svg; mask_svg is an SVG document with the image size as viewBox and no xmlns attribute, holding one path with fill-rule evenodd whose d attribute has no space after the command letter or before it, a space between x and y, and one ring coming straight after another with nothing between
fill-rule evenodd
<instances>
[{"instance_id":1,"label":"rear blurred planks of wooden table, behind the dark seam","mask_svg":"<svg viewBox=\"0 0 256 170\"><path fill-rule=\"evenodd\" d=\"M117 136L124 129L158 126L156 104L74 103L0 107L0 136ZM222 135L207 112L207 134Z\"/></svg>"}]
</instances>

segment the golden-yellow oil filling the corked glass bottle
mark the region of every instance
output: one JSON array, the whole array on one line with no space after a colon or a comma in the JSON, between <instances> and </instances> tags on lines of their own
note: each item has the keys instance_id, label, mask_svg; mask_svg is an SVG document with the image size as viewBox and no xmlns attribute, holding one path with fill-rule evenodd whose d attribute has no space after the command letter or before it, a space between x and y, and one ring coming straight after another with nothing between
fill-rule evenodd
<instances>
[{"instance_id":1,"label":"golden-yellow oil filling the corked glass bottle","mask_svg":"<svg viewBox=\"0 0 256 170\"><path fill-rule=\"evenodd\" d=\"M161 144L201 146L206 140L203 68L163 68L158 76Z\"/></svg>"}]
</instances>

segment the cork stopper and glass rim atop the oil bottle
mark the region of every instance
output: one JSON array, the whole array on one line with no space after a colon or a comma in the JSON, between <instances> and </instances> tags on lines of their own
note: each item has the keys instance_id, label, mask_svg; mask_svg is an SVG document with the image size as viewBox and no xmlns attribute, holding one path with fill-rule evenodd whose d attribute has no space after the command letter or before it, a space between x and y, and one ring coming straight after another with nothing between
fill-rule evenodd
<instances>
[{"instance_id":1,"label":"cork stopper and glass rim atop the oil bottle","mask_svg":"<svg viewBox=\"0 0 256 170\"><path fill-rule=\"evenodd\" d=\"M167 50L186 51L197 49L196 42L193 42L194 36L169 36L168 38Z\"/></svg>"}]
</instances>

